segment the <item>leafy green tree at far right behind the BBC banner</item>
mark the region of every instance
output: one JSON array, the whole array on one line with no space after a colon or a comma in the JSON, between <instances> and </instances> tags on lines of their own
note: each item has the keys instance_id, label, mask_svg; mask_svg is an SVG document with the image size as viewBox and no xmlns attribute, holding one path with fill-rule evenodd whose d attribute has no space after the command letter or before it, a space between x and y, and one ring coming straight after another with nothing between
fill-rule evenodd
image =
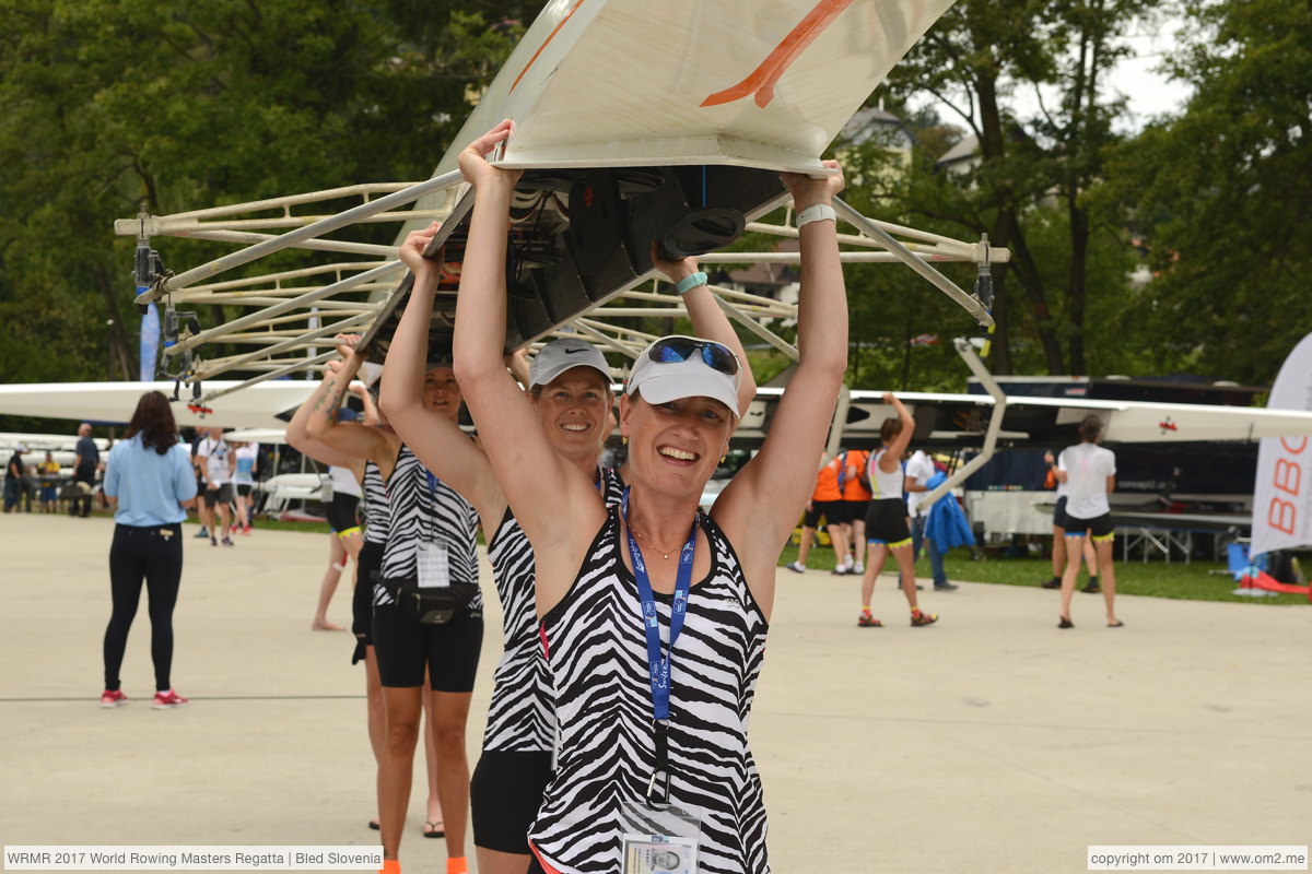
<instances>
[{"instance_id":1,"label":"leafy green tree at far right behind the BBC banner","mask_svg":"<svg viewBox=\"0 0 1312 874\"><path fill-rule=\"evenodd\" d=\"M1118 149L1101 197L1124 207L1155 271L1138 301L1151 366L1269 383L1312 329L1312 8L1210 4L1172 72L1178 117Z\"/></svg>"}]
</instances>

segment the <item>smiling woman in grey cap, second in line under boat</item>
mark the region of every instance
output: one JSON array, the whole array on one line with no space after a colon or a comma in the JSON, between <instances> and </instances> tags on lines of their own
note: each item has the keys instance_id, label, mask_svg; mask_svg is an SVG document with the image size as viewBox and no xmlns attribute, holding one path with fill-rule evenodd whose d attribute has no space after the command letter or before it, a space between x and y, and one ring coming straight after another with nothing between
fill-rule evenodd
<instances>
[{"instance_id":1,"label":"smiling woman in grey cap, second in line under boat","mask_svg":"<svg viewBox=\"0 0 1312 874\"><path fill-rule=\"evenodd\" d=\"M470 812L479 871L523 874L531 858L529 826L551 777L555 700L538 629L533 548L483 449L419 401L441 270L437 259L424 258L422 253L438 227L434 221L411 233L401 246L401 259L415 274L415 283L388 347L382 404L420 461L466 495L489 523L488 558L501 598L504 653L496 670L483 755L470 786ZM672 280L697 273L693 259L663 266ZM685 296L685 303L699 330L723 338L741 354L728 318L705 284ZM541 432L551 448L592 482L607 504L619 503L623 484L614 470L602 470L597 464L613 427L614 396L605 356L585 341L559 338L538 351L527 375L520 379L529 388ZM747 402L754 392L756 384L747 379L740 398Z\"/></svg>"}]
</instances>

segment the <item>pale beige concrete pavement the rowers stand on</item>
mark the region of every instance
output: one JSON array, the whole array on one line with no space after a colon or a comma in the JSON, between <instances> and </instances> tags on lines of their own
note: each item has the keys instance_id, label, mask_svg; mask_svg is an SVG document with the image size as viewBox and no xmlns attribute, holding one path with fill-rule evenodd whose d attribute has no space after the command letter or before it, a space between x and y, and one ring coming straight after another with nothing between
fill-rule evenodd
<instances>
[{"instance_id":1,"label":"pale beige concrete pavement the rowers stand on","mask_svg":"<svg viewBox=\"0 0 1312 874\"><path fill-rule=\"evenodd\" d=\"M0 518L3 843L375 844L363 672L348 634L310 632L327 536L215 549L185 527L173 679L192 704L150 708L143 604L133 702L102 710L112 527ZM1077 594L1057 630L1056 592L963 583L924 592L943 618L913 629L884 577L887 628L866 629L854 578L778 582L752 738L779 874L1048 874L1086 870L1089 844L1312 837L1309 607L1124 598L1107 629ZM329 617L349 624L345 591ZM405 870L445 870L419 790L411 811Z\"/></svg>"}]
</instances>

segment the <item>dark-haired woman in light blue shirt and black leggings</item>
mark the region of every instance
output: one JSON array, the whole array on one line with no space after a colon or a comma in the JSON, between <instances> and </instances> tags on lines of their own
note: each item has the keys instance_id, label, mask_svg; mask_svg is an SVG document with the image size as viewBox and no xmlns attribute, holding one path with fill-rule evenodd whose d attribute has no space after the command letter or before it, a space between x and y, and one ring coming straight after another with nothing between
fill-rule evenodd
<instances>
[{"instance_id":1,"label":"dark-haired woman in light blue shirt and black leggings","mask_svg":"<svg viewBox=\"0 0 1312 874\"><path fill-rule=\"evenodd\" d=\"M123 439L109 453L105 495L115 506L109 549L113 612L105 629L105 691L100 706L127 704L118 670L127 632L136 616L142 582L150 596L151 659L155 662L156 710L186 704L173 691L173 605L182 578L182 520L195 501L195 478L168 398L147 392L136 404Z\"/></svg>"}]
</instances>

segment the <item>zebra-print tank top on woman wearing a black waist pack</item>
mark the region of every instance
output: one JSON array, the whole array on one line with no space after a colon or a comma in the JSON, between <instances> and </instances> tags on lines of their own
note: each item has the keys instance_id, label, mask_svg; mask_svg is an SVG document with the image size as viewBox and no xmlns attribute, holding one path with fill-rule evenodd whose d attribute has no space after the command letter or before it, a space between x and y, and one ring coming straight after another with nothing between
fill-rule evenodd
<instances>
[{"instance_id":1,"label":"zebra-print tank top on woman wearing a black waist pack","mask_svg":"<svg viewBox=\"0 0 1312 874\"><path fill-rule=\"evenodd\" d=\"M468 501L441 480L433 477L430 484L430 476L409 447L401 446L396 468L387 481L391 524L383 546L382 575L384 579L413 578L419 573L419 544L424 540L445 540L451 579L478 584L479 515ZM387 590L374 586L374 605L391 603L392 596ZM483 609L483 592L474 596L470 609Z\"/></svg>"}]
</instances>

